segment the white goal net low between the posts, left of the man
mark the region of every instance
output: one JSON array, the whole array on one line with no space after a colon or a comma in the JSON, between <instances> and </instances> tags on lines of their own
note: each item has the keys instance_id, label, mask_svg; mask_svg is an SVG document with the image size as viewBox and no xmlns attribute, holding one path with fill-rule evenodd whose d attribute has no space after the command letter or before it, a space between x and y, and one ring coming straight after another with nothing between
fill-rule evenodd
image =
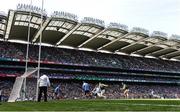
<instances>
[{"instance_id":1,"label":"white goal net low between the posts, left of the man","mask_svg":"<svg viewBox=\"0 0 180 112\"><path fill-rule=\"evenodd\" d=\"M17 77L8 102L36 99L37 69L28 69L22 76Z\"/></svg>"}]
</instances>

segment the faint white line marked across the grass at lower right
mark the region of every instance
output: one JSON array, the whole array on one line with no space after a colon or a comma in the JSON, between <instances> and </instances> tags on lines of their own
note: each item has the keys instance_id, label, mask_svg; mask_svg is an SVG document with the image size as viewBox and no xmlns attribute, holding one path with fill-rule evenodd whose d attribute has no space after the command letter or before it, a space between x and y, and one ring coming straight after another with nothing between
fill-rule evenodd
<instances>
[{"instance_id":1,"label":"faint white line marked across the grass at lower right","mask_svg":"<svg viewBox=\"0 0 180 112\"><path fill-rule=\"evenodd\" d=\"M163 104L135 104L135 103L105 103L105 104L121 104L121 105L135 105L135 106L158 106L158 107L180 107L180 105L163 105Z\"/></svg>"}]
</instances>

